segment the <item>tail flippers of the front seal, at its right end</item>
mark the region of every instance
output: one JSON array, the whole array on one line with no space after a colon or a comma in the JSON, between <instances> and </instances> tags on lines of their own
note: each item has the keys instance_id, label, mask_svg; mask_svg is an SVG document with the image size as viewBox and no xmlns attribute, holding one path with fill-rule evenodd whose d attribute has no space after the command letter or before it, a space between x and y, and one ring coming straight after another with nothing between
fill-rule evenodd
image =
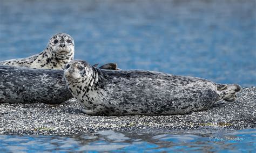
<instances>
[{"instance_id":1,"label":"tail flippers of the front seal, at its right end","mask_svg":"<svg viewBox=\"0 0 256 153\"><path fill-rule=\"evenodd\" d=\"M225 101L237 100L237 92L241 90L241 86L238 84L218 84L217 90L220 91L221 99Z\"/></svg>"}]
</instances>

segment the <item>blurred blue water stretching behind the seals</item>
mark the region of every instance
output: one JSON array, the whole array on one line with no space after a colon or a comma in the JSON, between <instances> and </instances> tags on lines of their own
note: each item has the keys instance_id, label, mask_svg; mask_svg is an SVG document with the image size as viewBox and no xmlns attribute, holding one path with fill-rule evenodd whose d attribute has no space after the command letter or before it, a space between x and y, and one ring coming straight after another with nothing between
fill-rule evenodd
<instances>
[{"instance_id":1,"label":"blurred blue water stretching behind the seals","mask_svg":"<svg viewBox=\"0 0 256 153\"><path fill-rule=\"evenodd\" d=\"M255 1L0 2L0 60L75 39L75 59L256 85Z\"/></svg>"}]
</instances>

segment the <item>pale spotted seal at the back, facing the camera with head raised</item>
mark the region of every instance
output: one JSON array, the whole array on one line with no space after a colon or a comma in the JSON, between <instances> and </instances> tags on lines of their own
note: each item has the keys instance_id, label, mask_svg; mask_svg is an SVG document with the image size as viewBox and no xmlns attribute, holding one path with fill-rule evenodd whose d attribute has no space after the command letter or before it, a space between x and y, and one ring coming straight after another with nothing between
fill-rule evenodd
<instances>
[{"instance_id":1,"label":"pale spotted seal at the back, facing the camera with head raised","mask_svg":"<svg viewBox=\"0 0 256 153\"><path fill-rule=\"evenodd\" d=\"M73 60L74 47L75 43L70 35L58 33L50 38L43 52L22 59L2 61L0 64L37 69L63 69L66 63Z\"/></svg>"}]
</instances>

